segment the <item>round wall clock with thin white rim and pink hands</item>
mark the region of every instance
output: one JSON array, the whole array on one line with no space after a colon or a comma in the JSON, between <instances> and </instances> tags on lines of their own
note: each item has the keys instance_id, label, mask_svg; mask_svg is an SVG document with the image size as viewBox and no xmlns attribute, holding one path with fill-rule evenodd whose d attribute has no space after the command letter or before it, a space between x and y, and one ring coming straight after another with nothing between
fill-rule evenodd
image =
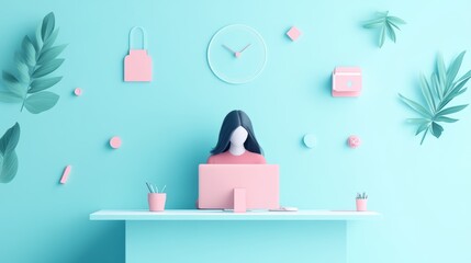
<instances>
[{"instance_id":1,"label":"round wall clock with thin white rim and pink hands","mask_svg":"<svg viewBox=\"0 0 471 263\"><path fill-rule=\"evenodd\" d=\"M247 83L263 71L267 46L254 28L228 25L214 34L208 46L208 64L213 73L232 84Z\"/></svg>"}]
</instances>

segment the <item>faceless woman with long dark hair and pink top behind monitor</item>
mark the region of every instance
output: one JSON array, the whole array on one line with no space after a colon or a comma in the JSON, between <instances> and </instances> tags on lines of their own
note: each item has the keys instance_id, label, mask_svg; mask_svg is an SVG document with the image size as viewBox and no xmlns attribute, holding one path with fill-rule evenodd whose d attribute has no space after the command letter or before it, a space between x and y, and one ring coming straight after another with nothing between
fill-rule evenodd
<instances>
[{"instance_id":1,"label":"faceless woman with long dark hair and pink top behind monitor","mask_svg":"<svg viewBox=\"0 0 471 263\"><path fill-rule=\"evenodd\" d=\"M217 145L209 164L265 164L261 148L255 138L250 118L243 111L232 111L224 118Z\"/></svg>"}]
</instances>

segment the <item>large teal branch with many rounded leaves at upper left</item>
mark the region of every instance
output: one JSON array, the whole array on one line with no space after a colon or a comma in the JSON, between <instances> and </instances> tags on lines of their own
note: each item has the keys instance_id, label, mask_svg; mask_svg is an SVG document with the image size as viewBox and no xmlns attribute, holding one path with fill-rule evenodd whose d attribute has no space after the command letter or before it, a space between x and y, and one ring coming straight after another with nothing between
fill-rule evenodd
<instances>
[{"instance_id":1,"label":"large teal branch with many rounded leaves at upper left","mask_svg":"<svg viewBox=\"0 0 471 263\"><path fill-rule=\"evenodd\" d=\"M57 58L67 45L54 46L59 30L55 28L55 16L51 12L37 27L33 38L24 36L21 52L14 56L15 71L3 71L2 78L7 91L0 91L0 101L21 103L33 114L42 113L56 105L59 95L45 91L57 84L63 77L49 77L63 65Z\"/></svg>"}]
</instances>

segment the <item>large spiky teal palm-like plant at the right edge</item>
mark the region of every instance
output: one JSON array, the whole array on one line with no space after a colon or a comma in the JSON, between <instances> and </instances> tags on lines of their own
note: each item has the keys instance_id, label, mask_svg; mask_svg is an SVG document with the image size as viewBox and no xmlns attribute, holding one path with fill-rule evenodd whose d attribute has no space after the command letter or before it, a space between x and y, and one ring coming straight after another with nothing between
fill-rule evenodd
<instances>
[{"instance_id":1,"label":"large spiky teal palm-like plant at the right edge","mask_svg":"<svg viewBox=\"0 0 471 263\"><path fill-rule=\"evenodd\" d=\"M471 70L457 79L458 71L461 68L466 52L462 52L448 67L445 67L444 58L438 55L437 64L430 78L427 79L420 75L420 89L426 105L412 101L402 94L399 94L401 100L417 114L422 115L419 118L408 118L407 122L417 124L418 128L415 135L424 133L420 145L424 142L428 132L436 138L441 136L444 127L439 123L456 123L458 119L449 117L450 114L462 111L468 106L458 105L446 107L455 98L461 95L467 91L468 80L471 78Z\"/></svg>"}]
</instances>

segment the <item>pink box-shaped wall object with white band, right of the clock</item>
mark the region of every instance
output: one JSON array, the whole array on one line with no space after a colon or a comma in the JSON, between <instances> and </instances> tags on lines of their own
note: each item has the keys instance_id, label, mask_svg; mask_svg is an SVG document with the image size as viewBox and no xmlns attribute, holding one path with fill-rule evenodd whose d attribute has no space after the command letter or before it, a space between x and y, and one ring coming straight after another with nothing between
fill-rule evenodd
<instances>
[{"instance_id":1,"label":"pink box-shaped wall object with white band, right of the clock","mask_svg":"<svg viewBox=\"0 0 471 263\"><path fill-rule=\"evenodd\" d=\"M332 75L332 95L359 96L361 82L361 68L337 67Z\"/></svg>"}]
</instances>

